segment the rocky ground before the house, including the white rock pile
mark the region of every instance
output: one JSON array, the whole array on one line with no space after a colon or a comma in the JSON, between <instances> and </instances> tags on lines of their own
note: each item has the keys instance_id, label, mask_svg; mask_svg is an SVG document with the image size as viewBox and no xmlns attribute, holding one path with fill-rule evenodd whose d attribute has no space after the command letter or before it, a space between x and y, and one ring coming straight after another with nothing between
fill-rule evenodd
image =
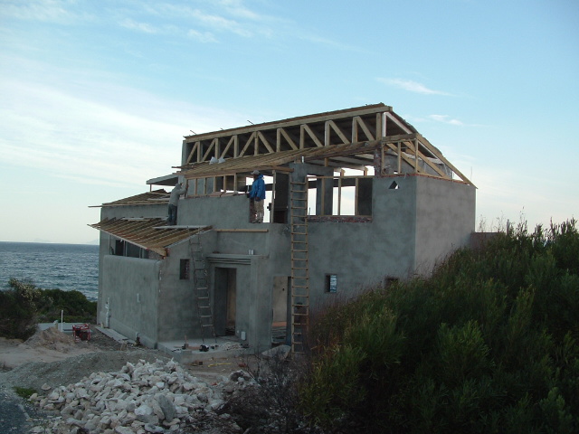
<instances>
[{"instance_id":1,"label":"rocky ground before the house, including the white rock pile","mask_svg":"<svg viewBox=\"0 0 579 434\"><path fill-rule=\"evenodd\" d=\"M247 357L232 351L203 364L181 365L157 350L121 350L96 330L90 342L55 332L1 343L0 392L14 401L14 386L36 391L31 401L16 402L29 420L25 426L10 422L22 426L9 432L241 432L227 414L214 410L227 394L251 382L242 371L251 363ZM15 366L3 361L3 355L18 351L30 360L21 356Z\"/></svg>"}]
</instances>

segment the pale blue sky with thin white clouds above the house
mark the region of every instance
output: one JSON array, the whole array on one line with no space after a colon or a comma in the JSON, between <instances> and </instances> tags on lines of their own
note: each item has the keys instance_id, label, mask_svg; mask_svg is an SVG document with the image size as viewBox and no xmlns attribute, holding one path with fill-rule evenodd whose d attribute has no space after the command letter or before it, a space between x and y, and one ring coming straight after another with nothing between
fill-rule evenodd
<instances>
[{"instance_id":1,"label":"pale blue sky with thin white clouds above the house","mask_svg":"<svg viewBox=\"0 0 579 434\"><path fill-rule=\"evenodd\" d=\"M475 230L579 218L575 0L0 0L0 241L90 243L183 137L383 102Z\"/></svg>"}]
</instances>

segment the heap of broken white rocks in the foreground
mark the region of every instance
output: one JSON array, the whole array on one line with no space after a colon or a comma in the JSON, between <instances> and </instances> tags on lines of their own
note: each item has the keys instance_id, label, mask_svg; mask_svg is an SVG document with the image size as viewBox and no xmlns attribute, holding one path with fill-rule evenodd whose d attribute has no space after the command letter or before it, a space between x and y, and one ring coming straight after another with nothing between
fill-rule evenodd
<instances>
[{"instance_id":1,"label":"heap of broken white rocks in the foreground","mask_svg":"<svg viewBox=\"0 0 579 434\"><path fill-rule=\"evenodd\" d=\"M60 413L52 428L58 426L62 432L144 434L195 423L204 413L217 410L222 398L220 388L199 381L174 361L140 360L127 363L118 373L91 373L81 382L30 399L43 410ZM36 427L32 432L43 430Z\"/></svg>"}]
</instances>

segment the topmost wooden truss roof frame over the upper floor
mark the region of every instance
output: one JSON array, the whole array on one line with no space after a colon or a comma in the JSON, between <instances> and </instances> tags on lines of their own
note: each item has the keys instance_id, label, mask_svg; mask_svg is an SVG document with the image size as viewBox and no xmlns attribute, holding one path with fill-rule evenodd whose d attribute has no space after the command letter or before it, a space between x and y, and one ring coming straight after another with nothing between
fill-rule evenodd
<instances>
[{"instance_id":1,"label":"topmost wooden truss roof frame over the upper floor","mask_svg":"<svg viewBox=\"0 0 579 434\"><path fill-rule=\"evenodd\" d=\"M439 149L384 104L289 118L248 127L187 136L185 178L289 170L312 165L375 173L430 175L471 184Z\"/></svg>"}]
</instances>

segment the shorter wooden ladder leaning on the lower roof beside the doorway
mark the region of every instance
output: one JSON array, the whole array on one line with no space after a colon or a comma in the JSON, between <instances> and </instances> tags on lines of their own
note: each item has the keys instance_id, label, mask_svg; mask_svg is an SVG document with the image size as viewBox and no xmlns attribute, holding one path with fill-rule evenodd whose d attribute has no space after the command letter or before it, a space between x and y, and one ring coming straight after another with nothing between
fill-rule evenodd
<instances>
[{"instance_id":1,"label":"shorter wooden ladder leaning on the lower roof beside the doorway","mask_svg":"<svg viewBox=\"0 0 579 434\"><path fill-rule=\"evenodd\" d=\"M207 337L213 337L214 342L216 343L217 338L215 337L214 313L211 308L211 297L209 294L209 273L205 266L203 246L201 244L202 233L203 232L201 231L197 232L195 236L189 238L191 258L193 259L195 301L197 304L197 316L199 316L203 343L205 343L205 335L207 335Z\"/></svg>"}]
</instances>

